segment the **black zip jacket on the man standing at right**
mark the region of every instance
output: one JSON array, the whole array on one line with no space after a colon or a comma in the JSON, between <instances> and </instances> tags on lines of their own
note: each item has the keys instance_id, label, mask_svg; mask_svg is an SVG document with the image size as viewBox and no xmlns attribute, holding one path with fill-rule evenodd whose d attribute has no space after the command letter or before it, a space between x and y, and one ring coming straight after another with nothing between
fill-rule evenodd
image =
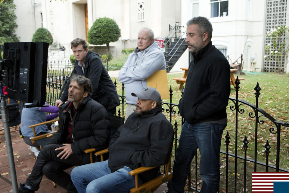
<instances>
[{"instance_id":1,"label":"black zip jacket on the man standing at right","mask_svg":"<svg viewBox=\"0 0 289 193\"><path fill-rule=\"evenodd\" d=\"M179 101L180 114L190 124L226 118L231 90L228 60L212 42L192 55L185 93Z\"/></svg>"}]
</instances>

